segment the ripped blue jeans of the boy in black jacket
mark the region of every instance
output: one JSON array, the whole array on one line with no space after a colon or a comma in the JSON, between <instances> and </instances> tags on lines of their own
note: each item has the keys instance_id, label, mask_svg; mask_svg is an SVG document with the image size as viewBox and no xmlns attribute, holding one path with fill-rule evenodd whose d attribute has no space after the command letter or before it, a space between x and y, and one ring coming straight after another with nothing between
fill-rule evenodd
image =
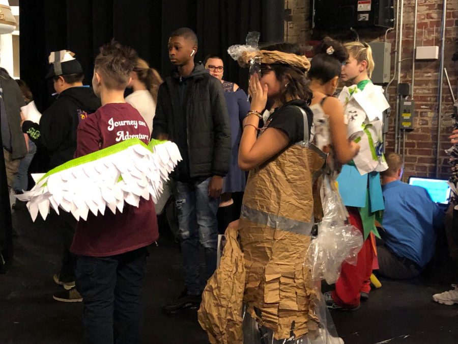
<instances>
[{"instance_id":1,"label":"ripped blue jeans of the boy in black jacket","mask_svg":"<svg viewBox=\"0 0 458 344\"><path fill-rule=\"evenodd\" d=\"M204 247L205 279L209 279L216 269L216 213L219 198L210 198L208 195L210 180L211 178L190 182L177 181L174 188L180 228L178 237L181 241L186 288L190 295L202 293L199 278L200 245Z\"/></svg>"}]
</instances>

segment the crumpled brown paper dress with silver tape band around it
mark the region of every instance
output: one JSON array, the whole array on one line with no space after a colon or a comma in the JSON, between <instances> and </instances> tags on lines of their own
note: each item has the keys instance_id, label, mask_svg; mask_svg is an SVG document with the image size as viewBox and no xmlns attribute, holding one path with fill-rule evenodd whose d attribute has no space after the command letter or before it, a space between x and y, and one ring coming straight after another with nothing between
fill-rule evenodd
<instances>
[{"instance_id":1,"label":"crumpled brown paper dress with silver tape band around it","mask_svg":"<svg viewBox=\"0 0 458 344\"><path fill-rule=\"evenodd\" d=\"M234 252L234 246L226 246L199 309L199 322L212 343L243 342L238 315L241 287L247 311L261 326L271 329L275 339L292 334L300 338L318 330L317 296L304 259L314 215L321 213L314 184L324 161L325 154L319 149L295 144L250 172L238 230L243 256L228 254L226 250ZM234 236L231 228L226 234ZM240 257L244 257L246 273L239 267ZM229 322L226 316L233 319Z\"/></svg>"}]
</instances>

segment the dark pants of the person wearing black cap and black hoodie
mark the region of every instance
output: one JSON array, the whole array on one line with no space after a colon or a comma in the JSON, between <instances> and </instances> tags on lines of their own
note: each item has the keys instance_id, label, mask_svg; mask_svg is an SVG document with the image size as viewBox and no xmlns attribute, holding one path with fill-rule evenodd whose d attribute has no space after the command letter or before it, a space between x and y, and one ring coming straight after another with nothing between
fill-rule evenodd
<instances>
[{"instance_id":1,"label":"dark pants of the person wearing black cap and black hoodie","mask_svg":"<svg viewBox=\"0 0 458 344\"><path fill-rule=\"evenodd\" d=\"M59 280L61 282L73 282L75 280L76 270L76 256L70 252L72 246L73 236L75 235L76 219L71 213L60 210L59 216L56 219L59 226L59 232L62 234L63 253L62 253L62 266L59 273Z\"/></svg>"}]
</instances>

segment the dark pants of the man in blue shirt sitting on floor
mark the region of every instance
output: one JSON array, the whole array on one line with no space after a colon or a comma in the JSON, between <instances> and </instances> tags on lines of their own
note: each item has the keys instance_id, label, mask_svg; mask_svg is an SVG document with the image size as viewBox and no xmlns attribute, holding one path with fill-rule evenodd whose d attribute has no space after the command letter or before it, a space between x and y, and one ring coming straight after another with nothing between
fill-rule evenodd
<instances>
[{"instance_id":1,"label":"dark pants of the man in blue shirt sitting on floor","mask_svg":"<svg viewBox=\"0 0 458 344\"><path fill-rule=\"evenodd\" d=\"M378 274L391 279L411 279L421 273L412 260L395 255L382 241L377 240Z\"/></svg>"}]
</instances>

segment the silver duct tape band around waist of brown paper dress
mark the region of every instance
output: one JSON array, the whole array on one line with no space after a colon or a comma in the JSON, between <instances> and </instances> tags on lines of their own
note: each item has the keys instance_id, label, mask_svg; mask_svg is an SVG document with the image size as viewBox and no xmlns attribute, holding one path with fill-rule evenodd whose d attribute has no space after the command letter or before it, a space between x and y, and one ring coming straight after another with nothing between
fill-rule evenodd
<instances>
[{"instance_id":1,"label":"silver duct tape band around waist of brown paper dress","mask_svg":"<svg viewBox=\"0 0 458 344\"><path fill-rule=\"evenodd\" d=\"M254 223L302 235L311 235L314 226L313 222L288 219L279 215L265 213L265 211L252 209L246 205L242 205L240 217L244 217ZM313 214L311 218L314 218Z\"/></svg>"}]
</instances>

